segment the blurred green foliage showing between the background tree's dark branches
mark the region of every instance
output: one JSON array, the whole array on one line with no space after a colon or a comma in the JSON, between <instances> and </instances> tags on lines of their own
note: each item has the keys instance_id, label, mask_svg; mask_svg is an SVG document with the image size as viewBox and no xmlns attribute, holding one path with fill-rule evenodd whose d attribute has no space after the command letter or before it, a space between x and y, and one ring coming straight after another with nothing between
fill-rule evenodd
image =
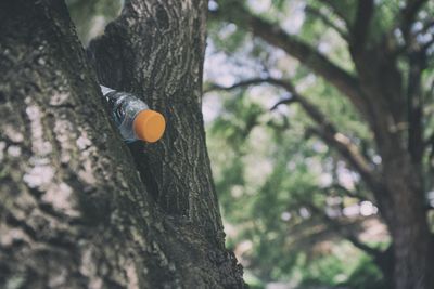
<instances>
[{"instance_id":1,"label":"blurred green foliage showing between the background tree's dark branches","mask_svg":"<svg viewBox=\"0 0 434 289\"><path fill-rule=\"evenodd\" d=\"M352 29L348 23L356 18L356 1L332 1L333 5L316 0L242 2L253 14L282 27L345 71L355 74L345 38ZM384 35L401 44L401 36L394 28L401 4L375 1L368 45L384 41ZM233 3L219 1L219 5L226 12L231 11ZM420 22L427 22L429 11L433 12L432 3L418 15ZM363 156L381 166L366 121L328 81L233 23L212 22L209 38L206 81L231 87L255 77L290 79ZM225 60L220 61L224 67L213 64L217 57ZM407 64L406 58L400 61ZM430 57L429 67L432 61ZM408 65L400 69L408 75ZM432 83L433 71L424 70L423 86ZM350 234L359 237L367 232L366 220L382 222L372 194L335 149L310 133L316 123L298 104L269 110L290 96L267 83L239 87L230 92L212 91L205 96L205 104L206 97L219 97L222 103L217 117L207 123L207 143L228 244L241 258L248 276L259 278L256 285L289 281L299 286L384 288L374 261L348 242L348 234L339 228L349 227ZM426 94L424 102L424 109L432 109L431 94ZM427 121L426 139L434 128L432 118ZM430 180L426 191L433 187ZM371 209L367 210L368 207ZM349 213L350 210L356 213ZM383 227L380 237L369 236L365 241L373 248L384 248L390 237Z\"/></svg>"}]
</instances>

